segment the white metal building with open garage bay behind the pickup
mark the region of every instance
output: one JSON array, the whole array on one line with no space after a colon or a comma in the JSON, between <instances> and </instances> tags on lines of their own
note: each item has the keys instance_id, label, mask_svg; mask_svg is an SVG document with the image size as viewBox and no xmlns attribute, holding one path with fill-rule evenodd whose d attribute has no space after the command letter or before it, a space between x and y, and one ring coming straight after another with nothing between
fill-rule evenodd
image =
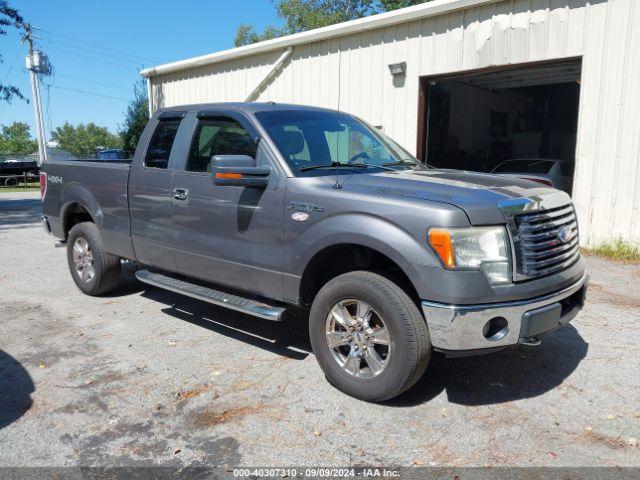
<instances>
[{"instance_id":1,"label":"white metal building with open garage bay behind the pickup","mask_svg":"<svg viewBox=\"0 0 640 480\"><path fill-rule=\"evenodd\" d=\"M319 105L438 166L565 159L583 244L640 243L638 0L435 0L142 75L152 111Z\"/></svg>"}]
</instances>

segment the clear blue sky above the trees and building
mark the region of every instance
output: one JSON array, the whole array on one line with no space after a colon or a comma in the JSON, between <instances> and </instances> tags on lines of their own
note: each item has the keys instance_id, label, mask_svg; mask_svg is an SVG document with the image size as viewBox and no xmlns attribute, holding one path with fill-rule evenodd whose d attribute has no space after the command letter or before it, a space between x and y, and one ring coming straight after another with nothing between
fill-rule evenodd
<instances>
[{"instance_id":1,"label":"clear blue sky above the trees and building","mask_svg":"<svg viewBox=\"0 0 640 480\"><path fill-rule=\"evenodd\" d=\"M116 132L140 68L233 48L238 25L278 25L271 0L9 0L38 27L36 46L54 68L41 83L47 139L65 122L94 122ZM9 29L0 36L0 83L31 98L26 45ZM49 86L47 86L49 85ZM27 122L33 104L0 103L0 124Z\"/></svg>"}]
</instances>

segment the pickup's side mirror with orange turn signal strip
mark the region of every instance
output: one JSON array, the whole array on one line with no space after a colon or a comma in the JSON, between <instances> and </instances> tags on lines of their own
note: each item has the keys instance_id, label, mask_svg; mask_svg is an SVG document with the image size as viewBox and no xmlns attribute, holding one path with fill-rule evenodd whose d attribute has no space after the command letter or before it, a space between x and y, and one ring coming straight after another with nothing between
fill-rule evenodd
<instances>
[{"instance_id":1,"label":"pickup's side mirror with orange turn signal strip","mask_svg":"<svg viewBox=\"0 0 640 480\"><path fill-rule=\"evenodd\" d=\"M248 155L215 155L211 159L211 175L214 185L236 187L266 187L271 167L256 166Z\"/></svg>"}]
</instances>

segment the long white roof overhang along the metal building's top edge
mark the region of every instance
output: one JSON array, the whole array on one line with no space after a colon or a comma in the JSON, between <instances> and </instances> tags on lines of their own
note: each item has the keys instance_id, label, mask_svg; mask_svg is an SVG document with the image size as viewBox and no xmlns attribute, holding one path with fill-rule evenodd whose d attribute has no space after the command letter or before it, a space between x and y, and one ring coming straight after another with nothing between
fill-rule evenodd
<instances>
[{"instance_id":1,"label":"long white roof overhang along the metal building's top edge","mask_svg":"<svg viewBox=\"0 0 640 480\"><path fill-rule=\"evenodd\" d=\"M371 15L369 17L351 20L349 22L338 23L328 27L308 30L294 35L265 40L264 42L245 45L243 47L222 50L220 52L202 55L200 57L180 60L178 62L165 63L156 67L145 68L140 71L143 77L154 77L166 73L187 70L204 65L225 62L236 58L257 55L287 47L294 47L305 43L317 42L333 37L349 35L353 33L383 28L398 23L420 20L427 17L450 13L456 10L477 7L487 3L494 3L499 0L433 0L431 2L414 5L412 7L401 8L391 12Z\"/></svg>"}]
</instances>

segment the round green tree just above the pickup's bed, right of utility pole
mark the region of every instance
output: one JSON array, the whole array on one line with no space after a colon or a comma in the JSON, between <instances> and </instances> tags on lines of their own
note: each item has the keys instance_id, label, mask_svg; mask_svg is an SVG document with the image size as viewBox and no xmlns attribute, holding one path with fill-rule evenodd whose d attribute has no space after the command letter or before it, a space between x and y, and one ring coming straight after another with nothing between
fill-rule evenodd
<instances>
[{"instance_id":1,"label":"round green tree just above the pickup's bed, right of utility pole","mask_svg":"<svg viewBox=\"0 0 640 480\"><path fill-rule=\"evenodd\" d=\"M98 149L120 148L122 145L118 135L94 123L81 123L74 127L65 122L62 127L51 132L51 139L57 141L60 148L77 157L93 157Z\"/></svg>"}]
</instances>

